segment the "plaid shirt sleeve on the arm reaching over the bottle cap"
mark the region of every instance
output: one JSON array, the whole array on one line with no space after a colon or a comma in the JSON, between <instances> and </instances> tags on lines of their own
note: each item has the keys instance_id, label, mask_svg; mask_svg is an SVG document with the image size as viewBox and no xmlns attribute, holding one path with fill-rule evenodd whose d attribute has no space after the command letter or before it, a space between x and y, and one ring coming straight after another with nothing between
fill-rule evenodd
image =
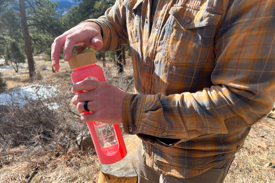
<instances>
[{"instance_id":1,"label":"plaid shirt sleeve on the arm reaching over the bottle cap","mask_svg":"<svg viewBox=\"0 0 275 183\"><path fill-rule=\"evenodd\" d=\"M126 26L126 9L122 3L122 0L117 0L111 8L106 10L104 16L98 19L85 20L97 23L102 30L103 48L100 50L94 49L95 51L107 52L120 50L123 45L129 43Z\"/></svg>"}]
</instances>

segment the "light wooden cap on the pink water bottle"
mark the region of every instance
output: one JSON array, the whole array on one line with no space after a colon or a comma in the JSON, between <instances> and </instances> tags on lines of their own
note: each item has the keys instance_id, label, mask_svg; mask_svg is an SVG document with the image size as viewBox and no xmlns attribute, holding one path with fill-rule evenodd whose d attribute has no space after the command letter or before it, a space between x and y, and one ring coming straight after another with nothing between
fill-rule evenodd
<instances>
[{"instance_id":1,"label":"light wooden cap on the pink water bottle","mask_svg":"<svg viewBox=\"0 0 275 183\"><path fill-rule=\"evenodd\" d=\"M86 66L92 63L97 63L97 58L93 51L80 53L71 57L69 65L71 69Z\"/></svg>"}]
</instances>

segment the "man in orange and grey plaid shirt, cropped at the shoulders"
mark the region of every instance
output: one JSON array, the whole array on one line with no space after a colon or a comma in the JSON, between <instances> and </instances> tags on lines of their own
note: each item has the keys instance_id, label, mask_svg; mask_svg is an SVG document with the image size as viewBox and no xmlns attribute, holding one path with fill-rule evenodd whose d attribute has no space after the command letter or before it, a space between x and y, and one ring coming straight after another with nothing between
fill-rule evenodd
<instances>
[{"instance_id":1,"label":"man in orange and grey plaid shirt, cropped at the shoulders","mask_svg":"<svg viewBox=\"0 0 275 183\"><path fill-rule=\"evenodd\" d=\"M151 22L151 23L150 23ZM223 182L251 125L275 99L274 0L117 0L105 16L55 39L98 51L130 42L135 95L100 81L74 84L83 122L123 123L138 135L138 181Z\"/></svg>"}]
</instances>

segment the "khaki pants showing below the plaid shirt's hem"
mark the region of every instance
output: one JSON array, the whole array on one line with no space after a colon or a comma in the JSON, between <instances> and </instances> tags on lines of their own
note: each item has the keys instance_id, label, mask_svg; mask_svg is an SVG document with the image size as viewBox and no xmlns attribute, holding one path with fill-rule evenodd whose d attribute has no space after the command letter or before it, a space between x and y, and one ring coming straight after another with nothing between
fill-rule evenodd
<instances>
[{"instance_id":1,"label":"khaki pants showing below the plaid shirt's hem","mask_svg":"<svg viewBox=\"0 0 275 183\"><path fill-rule=\"evenodd\" d=\"M138 143L138 183L222 183L226 177L235 156L225 162L219 163L206 172L192 178L176 178L171 175L157 172L146 165L146 153L142 157L141 140Z\"/></svg>"}]
</instances>

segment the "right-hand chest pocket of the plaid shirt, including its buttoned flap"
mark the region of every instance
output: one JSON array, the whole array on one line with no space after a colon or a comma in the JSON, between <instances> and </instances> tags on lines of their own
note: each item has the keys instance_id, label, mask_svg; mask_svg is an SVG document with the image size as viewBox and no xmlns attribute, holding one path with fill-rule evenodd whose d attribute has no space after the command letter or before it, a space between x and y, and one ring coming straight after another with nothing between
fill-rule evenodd
<instances>
[{"instance_id":1,"label":"right-hand chest pocket of the plaid shirt, including its buttoned flap","mask_svg":"<svg viewBox=\"0 0 275 183\"><path fill-rule=\"evenodd\" d=\"M166 60L175 66L204 64L222 11L182 3L174 5L169 14L163 40Z\"/></svg>"}]
</instances>

